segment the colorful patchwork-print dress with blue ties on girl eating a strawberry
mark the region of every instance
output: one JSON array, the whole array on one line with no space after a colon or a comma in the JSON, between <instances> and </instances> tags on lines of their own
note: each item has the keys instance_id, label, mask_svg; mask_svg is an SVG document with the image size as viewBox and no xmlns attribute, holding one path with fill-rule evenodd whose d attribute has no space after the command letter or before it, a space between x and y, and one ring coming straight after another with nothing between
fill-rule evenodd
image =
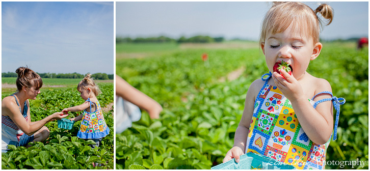
<instances>
[{"instance_id":1,"label":"colorful patchwork-print dress with blue ties on girl eating a strawberry","mask_svg":"<svg viewBox=\"0 0 370 171\"><path fill-rule=\"evenodd\" d=\"M269 77L263 79L265 75L269 75ZM324 169L326 150L331 137L324 145L313 143L302 129L290 101L284 97L277 87L268 84L271 73L265 75L262 76L265 84L254 103L245 153L252 152L265 155L293 165L297 169ZM323 93L331 95L331 92L319 94ZM339 100L342 101L339 102ZM318 102L309 100L314 108L324 101L333 101L337 111L333 135L335 140L339 119L339 104L344 104L345 99L333 97Z\"/></svg>"}]
</instances>

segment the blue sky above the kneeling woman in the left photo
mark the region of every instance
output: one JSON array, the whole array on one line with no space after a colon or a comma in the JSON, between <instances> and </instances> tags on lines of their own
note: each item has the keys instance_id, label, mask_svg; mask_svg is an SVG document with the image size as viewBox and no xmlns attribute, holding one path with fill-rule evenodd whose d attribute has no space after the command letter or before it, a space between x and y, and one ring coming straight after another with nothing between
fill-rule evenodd
<instances>
[{"instance_id":1,"label":"blue sky above the kneeling woman in the left photo","mask_svg":"<svg viewBox=\"0 0 370 171\"><path fill-rule=\"evenodd\" d=\"M2 72L114 72L113 2L2 2Z\"/></svg>"}]
</instances>

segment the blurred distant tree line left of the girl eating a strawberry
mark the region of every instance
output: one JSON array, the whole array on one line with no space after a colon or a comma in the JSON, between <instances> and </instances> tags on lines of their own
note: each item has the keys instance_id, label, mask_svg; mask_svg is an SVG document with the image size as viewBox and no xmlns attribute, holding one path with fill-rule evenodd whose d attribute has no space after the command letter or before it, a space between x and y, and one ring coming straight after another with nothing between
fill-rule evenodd
<instances>
[{"instance_id":1,"label":"blurred distant tree line left of the girl eating a strawberry","mask_svg":"<svg viewBox=\"0 0 370 171\"><path fill-rule=\"evenodd\" d=\"M212 43L212 42L222 42L224 41L223 37L209 37L209 36L194 36L191 38L180 37L179 39L172 39L165 36L160 37L150 37L150 38L136 38L131 39L127 38L116 38L116 43Z\"/></svg>"}]
</instances>

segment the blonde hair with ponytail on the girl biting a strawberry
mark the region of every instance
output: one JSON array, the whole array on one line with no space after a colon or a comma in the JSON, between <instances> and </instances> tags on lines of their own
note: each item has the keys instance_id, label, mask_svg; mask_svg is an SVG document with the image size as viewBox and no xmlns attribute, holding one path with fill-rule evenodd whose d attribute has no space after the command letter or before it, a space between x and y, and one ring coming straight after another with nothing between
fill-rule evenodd
<instances>
[{"instance_id":1,"label":"blonde hair with ponytail on the girl biting a strawberry","mask_svg":"<svg viewBox=\"0 0 370 171\"><path fill-rule=\"evenodd\" d=\"M325 19L329 20L326 25L333 21L333 9L327 5L322 4L316 10L299 2L274 2L271 9L266 13L262 21L261 35L259 44L265 42L268 34L282 33L290 24L295 28L300 26L301 33L306 33L304 36L313 38L313 43L320 41L320 26L323 26L323 21L316 15L320 13Z\"/></svg>"}]
</instances>

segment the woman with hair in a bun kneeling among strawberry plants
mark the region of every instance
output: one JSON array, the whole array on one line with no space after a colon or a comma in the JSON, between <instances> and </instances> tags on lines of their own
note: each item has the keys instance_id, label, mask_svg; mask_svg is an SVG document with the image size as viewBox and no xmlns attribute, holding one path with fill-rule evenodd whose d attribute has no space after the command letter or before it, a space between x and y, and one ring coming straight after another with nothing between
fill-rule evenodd
<instances>
[{"instance_id":1,"label":"woman with hair in a bun kneeling among strawberry plants","mask_svg":"<svg viewBox=\"0 0 370 171\"><path fill-rule=\"evenodd\" d=\"M31 141L43 142L49 136L49 129L44 125L68 116L56 112L40 121L31 122L28 99L35 100L40 94L42 79L29 68L19 67L15 72L18 74L17 91L2 100L3 153L9 150L8 145L28 147Z\"/></svg>"}]
</instances>

